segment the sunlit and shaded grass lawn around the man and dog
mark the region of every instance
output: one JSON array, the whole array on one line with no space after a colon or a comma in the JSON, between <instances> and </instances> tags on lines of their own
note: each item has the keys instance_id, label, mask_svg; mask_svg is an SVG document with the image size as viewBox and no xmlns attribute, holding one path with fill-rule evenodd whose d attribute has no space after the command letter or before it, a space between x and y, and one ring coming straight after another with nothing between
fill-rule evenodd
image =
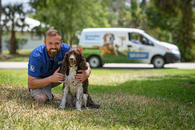
<instances>
[{"instance_id":1,"label":"sunlit and shaded grass lawn around the man and dog","mask_svg":"<svg viewBox=\"0 0 195 130\"><path fill-rule=\"evenodd\" d=\"M0 129L195 129L195 70L94 69L89 92L101 109L39 105L27 90L27 70L0 69Z\"/></svg>"}]
</instances>

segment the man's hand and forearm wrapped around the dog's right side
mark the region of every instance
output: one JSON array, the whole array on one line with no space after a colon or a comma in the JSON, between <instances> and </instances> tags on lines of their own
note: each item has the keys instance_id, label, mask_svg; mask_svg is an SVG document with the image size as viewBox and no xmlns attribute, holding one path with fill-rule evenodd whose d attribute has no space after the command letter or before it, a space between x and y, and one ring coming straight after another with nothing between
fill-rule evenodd
<instances>
[{"instance_id":1,"label":"man's hand and forearm wrapped around the dog's right side","mask_svg":"<svg viewBox=\"0 0 195 130\"><path fill-rule=\"evenodd\" d=\"M78 70L78 72L81 72L81 74L76 74L76 80L77 81L79 81L79 82L83 82L83 81L85 81L88 77L89 77L89 75L90 75L90 73L91 73L91 68L90 68L90 66L89 66L89 63L87 63L87 70Z\"/></svg>"}]
</instances>

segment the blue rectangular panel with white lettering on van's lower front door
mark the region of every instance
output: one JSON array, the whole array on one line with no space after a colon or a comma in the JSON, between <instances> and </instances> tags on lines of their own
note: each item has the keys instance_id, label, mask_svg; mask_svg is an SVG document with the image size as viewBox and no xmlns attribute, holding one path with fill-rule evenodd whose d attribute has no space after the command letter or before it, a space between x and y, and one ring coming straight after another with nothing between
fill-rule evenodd
<instances>
[{"instance_id":1,"label":"blue rectangular panel with white lettering on van's lower front door","mask_svg":"<svg viewBox=\"0 0 195 130\"><path fill-rule=\"evenodd\" d=\"M148 52L128 52L129 59L148 59Z\"/></svg>"}]
</instances>

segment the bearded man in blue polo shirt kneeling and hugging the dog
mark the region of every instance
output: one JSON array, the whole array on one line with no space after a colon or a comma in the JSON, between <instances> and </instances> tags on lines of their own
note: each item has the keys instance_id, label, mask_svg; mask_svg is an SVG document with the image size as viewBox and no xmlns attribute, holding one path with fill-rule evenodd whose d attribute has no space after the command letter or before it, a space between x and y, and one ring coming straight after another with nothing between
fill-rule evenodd
<instances>
[{"instance_id":1,"label":"bearded man in blue polo shirt kneeling and hugging the dog","mask_svg":"<svg viewBox=\"0 0 195 130\"><path fill-rule=\"evenodd\" d=\"M28 88L31 96L36 102L43 104L53 99L51 89L64 82L64 75L58 73L65 53L71 47L62 42L61 35L57 30L50 29L45 34L44 45L35 48L28 63ZM83 82L91 72L88 70L79 70L76 74L76 80ZM89 107L99 108L100 105L95 104L91 98L89 99Z\"/></svg>"}]
</instances>

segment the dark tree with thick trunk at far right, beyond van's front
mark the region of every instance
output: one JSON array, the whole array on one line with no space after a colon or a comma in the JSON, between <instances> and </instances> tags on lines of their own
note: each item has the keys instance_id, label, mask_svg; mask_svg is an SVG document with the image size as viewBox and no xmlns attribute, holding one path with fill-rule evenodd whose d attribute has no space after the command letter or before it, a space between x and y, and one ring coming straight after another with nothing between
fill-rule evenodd
<instances>
[{"instance_id":1,"label":"dark tree with thick trunk at far right, beyond van's front","mask_svg":"<svg viewBox=\"0 0 195 130\"><path fill-rule=\"evenodd\" d=\"M193 42L192 0L153 0L153 2L167 16L175 17L175 14L181 14L172 34L175 37L174 41L180 47L182 60L191 60Z\"/></svg>"}]
</instances>

